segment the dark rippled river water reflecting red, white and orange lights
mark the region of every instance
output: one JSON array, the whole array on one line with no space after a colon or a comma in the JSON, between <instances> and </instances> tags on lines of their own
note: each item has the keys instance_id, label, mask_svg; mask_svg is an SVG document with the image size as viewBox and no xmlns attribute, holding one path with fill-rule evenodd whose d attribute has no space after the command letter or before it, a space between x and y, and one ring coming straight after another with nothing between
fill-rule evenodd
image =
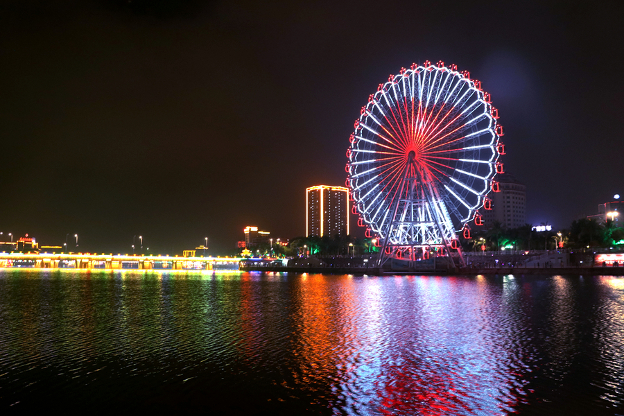
<instances>
[{"instance_id":1,"label":"dark rippled river water reflecting red, white and orange lights","mask_svg":"<svg viewBox=\"0 0 624 416\"><path fill-rule=\"evenodd\" d=\"M624 414L624 278L0 271L0 413Z\"/></svg>"}]
</instances>

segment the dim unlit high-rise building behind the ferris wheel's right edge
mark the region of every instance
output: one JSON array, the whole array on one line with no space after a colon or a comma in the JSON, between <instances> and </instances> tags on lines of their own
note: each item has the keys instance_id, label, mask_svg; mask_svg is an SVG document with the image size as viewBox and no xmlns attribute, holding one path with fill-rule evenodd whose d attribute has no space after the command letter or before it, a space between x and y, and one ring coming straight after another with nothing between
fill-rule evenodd
<instances>
[{"instance_id":1,"label":"dim unlit high-rise building behind the ferris wheel's right edge","mask_svg":"<svg viewBox=\"0 0 624 416\"><path fill-rule=\"evenodd\" d=\"M526 185L509 173L496 175L500 192L490 192L492 209L480 209L485 227L499 221L504 228L517 228L526 224Z\"/></svg>"}]
</instances>

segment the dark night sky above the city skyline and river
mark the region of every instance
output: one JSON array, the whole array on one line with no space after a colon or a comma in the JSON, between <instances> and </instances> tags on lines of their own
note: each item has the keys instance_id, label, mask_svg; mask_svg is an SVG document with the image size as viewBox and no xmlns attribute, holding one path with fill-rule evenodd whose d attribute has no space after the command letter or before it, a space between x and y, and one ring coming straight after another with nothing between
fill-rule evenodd
<instances>
[{"instance_id":1,"label":"dark night sky above the city skyline and river","mask_svg":"<svg viewBox=\"0 0 624 416\"><path fill-rule=\"evenodd\" d=\"M369 94L455 63L499 109L528 223L624 194L619 2L1 1L0 232L179 254L305 233ZM352 223L355 227L355 222ZM71 241L71 237L69 239Z\"/></svg>"}]
</instances>

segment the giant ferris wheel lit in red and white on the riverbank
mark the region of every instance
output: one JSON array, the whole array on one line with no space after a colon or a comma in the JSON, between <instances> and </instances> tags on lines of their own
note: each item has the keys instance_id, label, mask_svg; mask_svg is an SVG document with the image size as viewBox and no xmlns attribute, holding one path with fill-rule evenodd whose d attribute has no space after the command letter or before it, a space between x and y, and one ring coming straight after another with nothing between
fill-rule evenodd
<instances>
[{"instance_id":1,"label":"giant ferris wheel lit in red and white on the riverbank","mask_svg":"<svg viewBox=\"0 0 624 416\"><path fill-rule=\"evenodd\" d=\"M452 64L402 68L379 84L355 121L347 186L358 224L375 234L382 260L458 252L458 233L483 225L499 191L503 127L480 81ZM451 257L452 261L452 257Z\"/></svg>"}]
</instances>

